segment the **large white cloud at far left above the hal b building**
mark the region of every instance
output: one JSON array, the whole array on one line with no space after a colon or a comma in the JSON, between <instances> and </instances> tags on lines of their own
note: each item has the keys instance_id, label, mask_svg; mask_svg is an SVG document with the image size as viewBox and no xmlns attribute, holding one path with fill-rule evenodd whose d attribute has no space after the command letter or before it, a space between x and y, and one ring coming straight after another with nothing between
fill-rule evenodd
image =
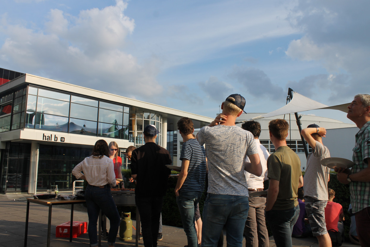
<instances>
[{"instance_id":1,"label":"large white cloud at far left above the hal b building","mask_svg":"<svg viewBox=\"0 0 370 247\"><path fill-rule=\"evenodd\" d=\"M10 24L1 19L0 62L7 67L73 84L131 97L163 92L155 77L161 62L149 57L139 63L125 51L134 20L125 16L127 3L82 10L71 16L62 10L48 13L43 30ZM144 90L150 87L150 90Z\"/></svg>"}]
</instances>

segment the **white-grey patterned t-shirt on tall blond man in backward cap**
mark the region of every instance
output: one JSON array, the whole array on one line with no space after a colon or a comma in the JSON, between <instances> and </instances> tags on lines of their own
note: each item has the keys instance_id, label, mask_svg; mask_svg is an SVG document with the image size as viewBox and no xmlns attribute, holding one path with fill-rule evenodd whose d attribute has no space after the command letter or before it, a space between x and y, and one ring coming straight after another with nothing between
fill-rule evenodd
<instances>
[{"instance_id":1,"label":"white-grey patterned t-shirt on tall blond man in backward cap","mask_svg":"<svg viewBox=\"0 0 370 247\"><path fill-rule=\"evenodd\" d=\"M205 126L198 138L206 145L208 193L248 196L243 161L258 154L252 133L238 126Z\"/></svg>"}]
</instances>

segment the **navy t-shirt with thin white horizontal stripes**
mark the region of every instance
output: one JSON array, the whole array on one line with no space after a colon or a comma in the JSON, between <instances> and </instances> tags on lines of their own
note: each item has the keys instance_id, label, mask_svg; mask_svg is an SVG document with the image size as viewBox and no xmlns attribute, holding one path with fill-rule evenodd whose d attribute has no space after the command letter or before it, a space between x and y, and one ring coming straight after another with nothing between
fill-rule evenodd
<instances>
[{"instance_id":1,"label":"navy t-shirt with thin white horizontal stripes","mask_svg":"<svg viewBox=\"0 0 370 247\"><path fill-rule=\"evenodd\" d=\"M206 152L196 139L182 144L180 160L189 160L188 176L180 191L203 191L206 176Z\"/></svg>"}]
</instances>

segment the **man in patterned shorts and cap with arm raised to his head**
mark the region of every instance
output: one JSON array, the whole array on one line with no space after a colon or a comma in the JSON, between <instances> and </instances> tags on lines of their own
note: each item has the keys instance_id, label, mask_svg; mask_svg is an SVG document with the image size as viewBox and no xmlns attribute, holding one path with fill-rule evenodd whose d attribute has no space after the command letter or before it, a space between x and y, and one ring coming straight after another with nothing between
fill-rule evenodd
<instances>
[{"instance_id":1,"label":"man in patterned shorts and cap with arm raised to his head","mask_svg":"<svg viewBox=\"0 0 370 247\"><path fill-rule=\"evenodd\" d=\"M303 138L312 147L312 153L307 157L303 191L305 193L305 208L313 236L317 237L320 247L332 246L325 224L325 207L328 201L327 182L329 167L322 166L320 161L329 158L329 149L323 145L325 128L310 124L301 131Z\"/></svg>"}]
</instances>

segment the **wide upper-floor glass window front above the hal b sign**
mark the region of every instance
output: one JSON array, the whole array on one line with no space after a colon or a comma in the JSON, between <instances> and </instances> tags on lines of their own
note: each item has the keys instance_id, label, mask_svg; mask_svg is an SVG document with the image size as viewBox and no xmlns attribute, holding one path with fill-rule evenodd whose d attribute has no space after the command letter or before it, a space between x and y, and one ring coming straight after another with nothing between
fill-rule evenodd
<instances>
[{"instance_id":1,"label":"wide upper-floor glass window front above the hal b sign","mask_svg":"<svg viewBox=\"0 0 370 247\"><path fill-rule=\"evenodd\" d=\"M128 139L129 111L127 106L28 87L25 127Z\"/></svg>"}]
</instances>

